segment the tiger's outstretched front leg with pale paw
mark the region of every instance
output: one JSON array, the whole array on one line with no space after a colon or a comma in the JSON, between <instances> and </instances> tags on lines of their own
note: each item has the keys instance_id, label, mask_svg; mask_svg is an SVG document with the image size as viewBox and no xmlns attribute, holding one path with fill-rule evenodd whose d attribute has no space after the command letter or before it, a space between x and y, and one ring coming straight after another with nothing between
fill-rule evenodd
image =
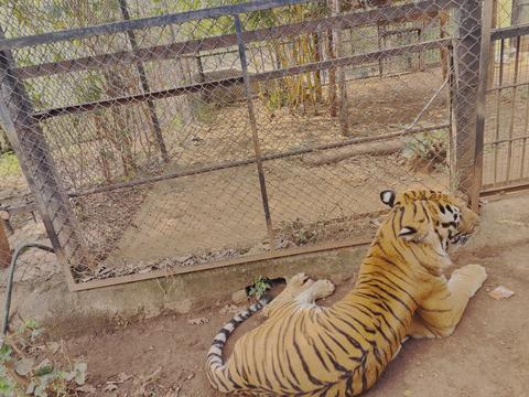
<instances>
[{"instance_id":1,"label":"tiger's outstretched front leg with pale paw","mask_svg":"<svg viewBox=\"0 0 529 397\"><path fill-rule=\"evenodd\" d=\"M468 300L487 278L485 268L467 265L455 270L447 282L436 288L413 315L408 334L412 337L450 336L460 322Z\"/></svg>"}]
</instances>

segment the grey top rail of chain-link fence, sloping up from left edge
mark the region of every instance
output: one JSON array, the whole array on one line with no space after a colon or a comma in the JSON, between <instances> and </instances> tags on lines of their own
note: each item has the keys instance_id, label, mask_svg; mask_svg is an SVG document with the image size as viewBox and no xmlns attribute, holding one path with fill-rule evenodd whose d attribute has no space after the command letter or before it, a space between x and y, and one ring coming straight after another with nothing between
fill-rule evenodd
<instances>
[{"instance_id":1,"label":"grey top rail of chain-link fence, sloping up from left edge","mask_svg":"<svg viewBox=\"0 0 529 397\"><path fill-rule=\"evenodd\" d=\"M235 13L247 13L262 11L278 7L310 3L317 0L255 0L234 6L213 7L203 10L171 13L161 17L140 18L131 21L111 22L95 26L69 29L58 32L28 35L15 39L0 39L0 50L18 49L23 46L50 44L65 40L84 39L96 35L127 32L129 30L141 30L164 26L168 24L196 21L207 18L219 18ZM429 1L434 2L434 1Z\"/></svg>"}]
</instances>

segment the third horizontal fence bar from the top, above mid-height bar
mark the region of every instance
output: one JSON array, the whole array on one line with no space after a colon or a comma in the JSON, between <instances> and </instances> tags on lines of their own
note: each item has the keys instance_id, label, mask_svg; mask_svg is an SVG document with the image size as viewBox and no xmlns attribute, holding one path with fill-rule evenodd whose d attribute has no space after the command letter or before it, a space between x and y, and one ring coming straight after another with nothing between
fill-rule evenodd
<instances>
[{"instance_id":1,"label":"third horizontal fence bar from the top, above mid-height bar","mask_svg":"<svg viewBox=\"0 0 529 397\"><path fill-rule=\"evenodd\" d=\"M382 50L382 51L375 51L370 53L365 53L365 54L358 54L358 55L352 55L352 56L345 56L341 58L334 58L334 60L327 60L327 61L320 61L320 62L313 62L313 63L307 63L304 65L300 66L292 66L288 67L284 69L279 69L279 71L270 71L270 72L263 72L263 73L258 73L258 74L252 74L250 75L250 79L253 82L263 82L263 81L270 81L273 78L281 78L281 77L287 77L287 76L292 76L296 75L300 73L306 73L306 72L315 72L315 71L323 71L327 69L332 66L348 66L348 65L355 65L355 64L361 64L365 62L370 62L373 61L373 57L391 57L391 56L398 56L398 55L404 55L408 53L412 52L420 52L424 50L434 50L434 49L441 49L444 46L450 46L451 39L441 39L441 40L433 40L420 44L411 44L411 45L403 45L400 47L395 47L395 49L389 49L389 50ZM169 89L162 89L158 92L151 92L151 93L143 93L143 94L137 94L137 95L130 95L130 96L125 96L125 97L119 97L119 98L111 98L111 99L105 99L105 100L99 100L99 101L94 101L94 103L85 103L85 104L79 104L79 105L71 105L71 106L65 106L65 107L60 107L60 108L53 108L53 109L47 109L44 111L40 111L34 115L34 118L36 120L43 120L50 117L55 117L55 116L61 116L64 114L74 114L74 112L83 112L83 111L90 111L95 109L100 109L100 108L107 108L111 106L119 106L119 105L129 105L132 103L140 103L149 99L163 99L163 98L170 98L173 96L179 96L179 95L184 95L184 94L191 94L191 93L197 93L202 90L212 90L215 87L223 86L227 87L230 85L239 85L244 84L244 77L230 77L230 78L224 78L224 79L218 79L218 81L212 81L212 82L205 82L205 83L197 83L197 84L192 84L187 86L181 86L181 87L175 87L175 88L169 88Z\"/></svg>"}]
</instances>

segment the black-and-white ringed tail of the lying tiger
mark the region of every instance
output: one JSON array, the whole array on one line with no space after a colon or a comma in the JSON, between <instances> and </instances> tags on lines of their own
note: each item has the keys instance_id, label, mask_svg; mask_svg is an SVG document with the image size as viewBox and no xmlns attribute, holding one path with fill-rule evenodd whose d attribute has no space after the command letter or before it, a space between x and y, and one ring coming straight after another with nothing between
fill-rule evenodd
<instances>
[{"instance_id":1,"label":"black-and-white ringed tail of the lying tiger","mask_svg":"<svg viewBox=\"0 0 529 397\"><path fill-rule=\"evenodd\" d=\"M207 352L207 364L206 364L206 372L207 377L212 385L222 390L222 391L229 391L226 385L226 380L222 379L222 369L224 368L224 361L223 361L223 351L224 346L226 345L226 341L228 340L229 335L235 331L237 326L242 324L245 320L249 319L256 312L261 310L272 300L271 296L264 296L259 299L256 303L250 305L248 309L244 310L242 312L238 313L231 320L229 320L226 325L224 325L220 331L218 331L217 335L213 340L212 347Z\"/></svg>"}]
</instances>

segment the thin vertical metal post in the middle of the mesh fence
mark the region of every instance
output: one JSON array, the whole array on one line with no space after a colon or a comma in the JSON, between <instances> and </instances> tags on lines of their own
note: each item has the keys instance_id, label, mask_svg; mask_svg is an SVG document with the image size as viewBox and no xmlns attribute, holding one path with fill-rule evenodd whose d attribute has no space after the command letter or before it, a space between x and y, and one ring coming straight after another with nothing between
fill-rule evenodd
<instances>
[{"instance_id":1,"label":"thin vertical metal post in the middle of the mesh fence","mask_svg":"<svg viewBox=\"0 0 529 397\"><path fill-rule=\"evenodd\" d=\"M252 97L251 84L250 84L250 77L248 75L248 63L246 60L246 45L242 39L242 24L240 23L240 18L238 14L234 15L234 22L235 22L235 31L237 34L237 45L239 50L240 67L242 69L242 79L245 82L245 94L246 94L246 101L248 106L248 117L250 119L251 138L253 140L253 151L256 153L257 172L259 174L259 185L261 187L261 200L262 200L262 207L264 210L264 221L267 223L268 236L270 239L270 248L273 249L272 219L270 217L270 207L268 205L267 183L264 181L264 171L262 168L262 155L261 155L261 148L259 144L259 135L257 131L256 114L253 109L253 104L251 101L251 97Z\"/></svg>"}]
</instances>

